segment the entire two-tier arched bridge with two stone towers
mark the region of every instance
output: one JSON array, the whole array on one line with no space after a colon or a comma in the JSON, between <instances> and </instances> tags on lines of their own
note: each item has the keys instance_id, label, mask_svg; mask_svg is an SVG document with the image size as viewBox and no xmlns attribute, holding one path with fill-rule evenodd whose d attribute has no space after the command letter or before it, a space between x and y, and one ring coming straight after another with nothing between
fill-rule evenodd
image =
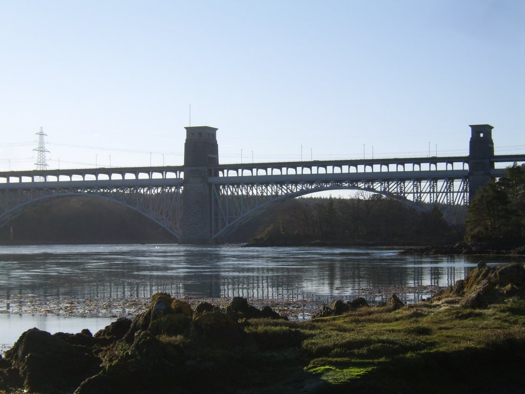
<instances>
[{"instance_id":1,"label":"entire two-tier arched bridge with two stone towers","mask_svg":"<svg viewBox=\"0 0 525 394\"><path fill-rule=\"evenodd\" d=\"M91 195L149 217L180 243L218 243L278 202L365 190L408 203L466 205L525 154L495 155L490 125L471 125L468 156L219 164L216 128L186 127L184 165L0 172L0 227L29 204Z\"/></svg>"}]
</instances>

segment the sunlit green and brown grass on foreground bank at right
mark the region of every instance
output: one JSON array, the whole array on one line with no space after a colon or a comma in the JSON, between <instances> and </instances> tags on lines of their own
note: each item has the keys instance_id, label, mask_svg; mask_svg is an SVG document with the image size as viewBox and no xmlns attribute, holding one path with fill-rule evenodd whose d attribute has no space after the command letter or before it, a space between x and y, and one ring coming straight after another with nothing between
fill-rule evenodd
<instances>
[{"instance_id":1,"label":"sunlit green and brown grass on foreground bank at right","mask_svg":"<svg viewBox=\"0 0 525 394\"><path fill-rule=\"evenodd\" d=\"M281 382L280 390L506 392L521 389L524 312L525 301L517 298L476 310L422 303L396 311L362 308L304 324L251 320L246 331L267 352L257 357L259 366L280 359L288 370L301 366L303 381L317 381L295 390ZM296 349L293 357L270 351L287 348Z\"/></svg>"}]
</instances>

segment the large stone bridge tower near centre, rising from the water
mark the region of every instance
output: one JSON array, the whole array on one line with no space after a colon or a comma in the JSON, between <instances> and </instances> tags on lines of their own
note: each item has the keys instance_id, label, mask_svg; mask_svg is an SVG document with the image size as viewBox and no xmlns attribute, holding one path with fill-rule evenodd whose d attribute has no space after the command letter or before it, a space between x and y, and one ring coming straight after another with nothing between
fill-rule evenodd
<instances>
[{"instance_id":1,"label":"large stone bridge tower near centre, rising from the water","mask_svg":"<svg viewBox=\"0 0 525 394\"><path fill-rule=\"evenodd\" d=\"M185 127L182 236L184 244L213 243L212 191L208 166L218 164L216 128Z\"/></svg>"}]
</instances>

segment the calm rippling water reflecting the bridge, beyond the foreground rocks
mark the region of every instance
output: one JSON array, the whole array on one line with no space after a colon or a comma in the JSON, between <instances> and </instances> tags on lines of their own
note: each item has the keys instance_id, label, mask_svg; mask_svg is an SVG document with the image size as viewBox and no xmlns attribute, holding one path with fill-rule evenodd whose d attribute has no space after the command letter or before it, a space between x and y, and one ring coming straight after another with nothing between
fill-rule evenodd
<instances>
[{"instance_id":1,"label":"calm rippling water reflecting the bridge, beyond the foreground rocks","mask_svg":"<svg viewBox=\"0 0 525 394\"><path fill-rule=\"evenodd\" d=\"M8 332L16 336L23 332L22 319L29 326L78 332L76 323L67 320L71 316L130 315L157 292L318 304L357 296L375 303L396 292L405 302L416 302L438 286L464 278L479 260L510 262L509 257L397 256L397 252L240 245L1 246L0 344L12 343L4 339ZM46 314L45 319L31 317ZM100 320L97 325L87 317L80 321L82 328L93 332L107 324Z\"/></svg>"}]
</instances>

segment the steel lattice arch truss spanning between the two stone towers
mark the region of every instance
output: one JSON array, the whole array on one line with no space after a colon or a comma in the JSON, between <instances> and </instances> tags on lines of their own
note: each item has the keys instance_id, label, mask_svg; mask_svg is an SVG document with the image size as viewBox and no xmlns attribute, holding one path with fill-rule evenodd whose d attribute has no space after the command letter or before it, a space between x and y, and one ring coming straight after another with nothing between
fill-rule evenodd
<instances>
[{"instance_id":1,"label":"steel lattice arch truss spanning between the two stone towers","mask_svg":"<svg viewBox=\"0 0 525 394\"><path fill-rule=\"evenodd\" d=\"M468 179L405 179L377 181L316 181L216 183L212 187L212 229L225 236L271 203L324 190L361 189L415 204L468 204Z\"/></svg>"}]
</instances>

